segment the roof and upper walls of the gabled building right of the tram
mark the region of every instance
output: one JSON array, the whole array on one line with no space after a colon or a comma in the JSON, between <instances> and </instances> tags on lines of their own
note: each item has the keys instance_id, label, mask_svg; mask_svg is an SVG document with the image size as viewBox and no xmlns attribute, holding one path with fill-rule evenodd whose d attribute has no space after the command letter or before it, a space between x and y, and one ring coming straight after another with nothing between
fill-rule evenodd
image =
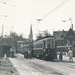
<instances>
[{"instance_id":1,"label":"roof and upper walls of the gabled building right of the tram","mask_svg":"<svg viewBox=\"0 0 75 75\"><path fill-rule=\"evenodd\" d=\"M53 36L56 38L57 45L73 45L75 43L75 31L72 28L69 31L54 31Z\"/></svg>"}]
</instances>

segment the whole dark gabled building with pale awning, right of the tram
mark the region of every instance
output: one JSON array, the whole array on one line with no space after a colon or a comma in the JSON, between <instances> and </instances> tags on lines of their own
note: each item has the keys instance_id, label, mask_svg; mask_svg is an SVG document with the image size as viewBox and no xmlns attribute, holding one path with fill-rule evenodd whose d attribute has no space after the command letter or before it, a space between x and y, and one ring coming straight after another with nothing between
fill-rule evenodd
<instances>
[{"instance_id":1,"label":"whole dark gabled building with pale awning, right of the tram","mask_svg":"<svg viewBox=\"0 0 75 75\"><path fill-rule=\"evenodd\" d=\"M68 51L70 47L75 56L75 31L70 28L69 31L54 31L53 36L57 40L58 51Z\"/></svg>"}]
</instances>

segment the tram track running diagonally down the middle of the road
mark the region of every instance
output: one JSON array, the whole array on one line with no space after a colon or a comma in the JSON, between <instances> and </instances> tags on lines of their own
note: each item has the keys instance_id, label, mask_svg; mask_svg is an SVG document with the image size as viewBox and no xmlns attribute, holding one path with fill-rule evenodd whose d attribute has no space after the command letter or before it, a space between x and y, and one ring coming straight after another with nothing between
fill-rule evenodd
<instances>
[{"instance_id":1,"label":"tram track running diagonally down the middle of the road","mask_svg":"<svg viewBox=\"0 0 75 75\"><path fill-rule=\"evenodd\" d=\"M24 60L24 58L20 57L19 55L17 58L23 62L25 62L25 60L26 60L26 59ZM43 64L32 62L31 60L29 60L29 61L27 60L27 64L29 66L33 67L34 69L36 69L37 71L42 72L45 75L51 75L51 74L53 74L53 75L68 75L68 74L58 71L52 67L48 67Z\"/></svg>"}]
</instances>

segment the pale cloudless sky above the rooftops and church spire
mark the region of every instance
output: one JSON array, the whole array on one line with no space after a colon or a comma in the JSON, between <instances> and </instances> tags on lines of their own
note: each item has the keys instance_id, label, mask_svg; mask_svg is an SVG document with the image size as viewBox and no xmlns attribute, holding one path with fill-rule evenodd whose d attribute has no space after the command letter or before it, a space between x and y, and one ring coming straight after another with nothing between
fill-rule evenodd
<instances>
[{"instance_id":1,"label":"pale cloudless sky above the rooftops and church spire","mask_svg":"<svg viewBox=\"0 0 75 75\"><path fill-rule=\"evenodd\" d=\"M49 13L63 1L67 2ZM9 35L11 31L28 38L32 24L34 39L39 31L48 30L50 34L63 29L68 31L71 27L69 18L72 18L75 30L75 0L0 0L0 35L2 25L3 35ZM36 19L42 20L38 23Z\"/></svg>"}]
</instances>

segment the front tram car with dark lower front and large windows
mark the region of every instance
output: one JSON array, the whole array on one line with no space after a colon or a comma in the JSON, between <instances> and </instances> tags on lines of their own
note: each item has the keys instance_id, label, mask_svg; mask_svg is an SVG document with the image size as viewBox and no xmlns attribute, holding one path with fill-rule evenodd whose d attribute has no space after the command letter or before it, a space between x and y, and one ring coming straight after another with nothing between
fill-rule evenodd
<instances>
[{"instance_id":1,"label":"front tram car with dark lower front and large windows","mask_svg":"<svg viewBox=\"0 0 75 75\"><path fill-rule=\"evenodd\" d=\"M53 36L45 37L33 42L33 56L46 60L57 58L56 40Z\"/></svg>"}]
</instances>

